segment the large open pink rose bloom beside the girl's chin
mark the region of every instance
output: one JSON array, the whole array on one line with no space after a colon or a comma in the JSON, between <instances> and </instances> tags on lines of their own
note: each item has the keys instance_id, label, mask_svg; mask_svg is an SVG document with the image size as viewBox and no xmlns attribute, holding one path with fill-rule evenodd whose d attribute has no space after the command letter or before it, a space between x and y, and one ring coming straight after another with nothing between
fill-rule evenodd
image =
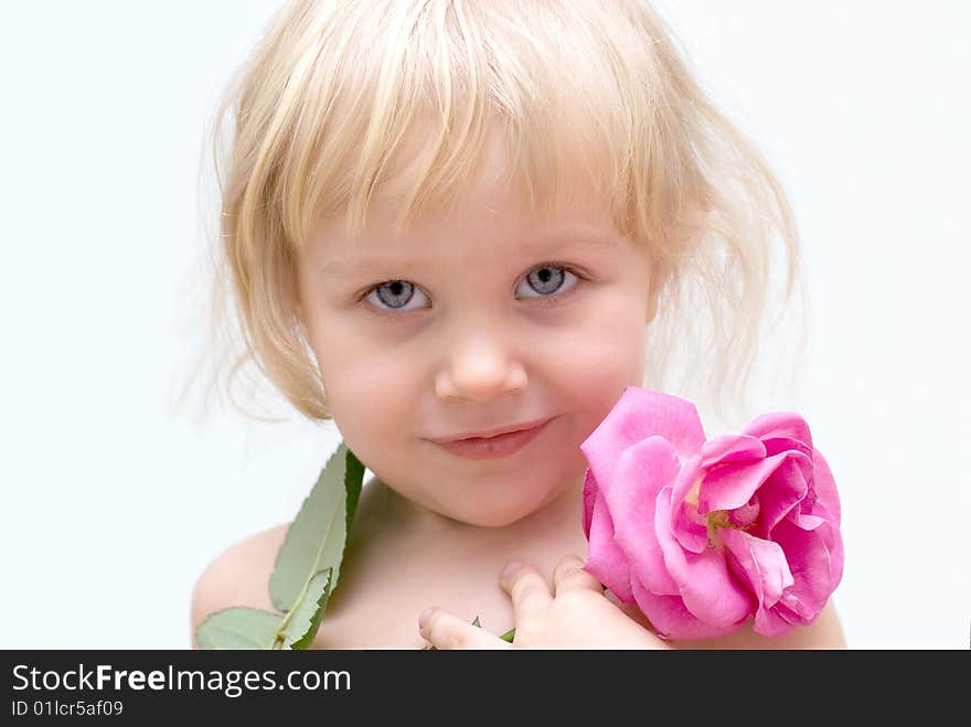
<instances>
[{"instance_id":1,"label":"large open pink rose bloom beside the girl's chin","mask_svg":"<svg viewBox=\"0 0 971 727\"><path fill-rule=\"evenodd\" d=\"M586 569L660 635L812 623L843 575L840 500L798 414L706 440L695 406L625 389L580 445Z\"/></svg>"}]
</instances>

